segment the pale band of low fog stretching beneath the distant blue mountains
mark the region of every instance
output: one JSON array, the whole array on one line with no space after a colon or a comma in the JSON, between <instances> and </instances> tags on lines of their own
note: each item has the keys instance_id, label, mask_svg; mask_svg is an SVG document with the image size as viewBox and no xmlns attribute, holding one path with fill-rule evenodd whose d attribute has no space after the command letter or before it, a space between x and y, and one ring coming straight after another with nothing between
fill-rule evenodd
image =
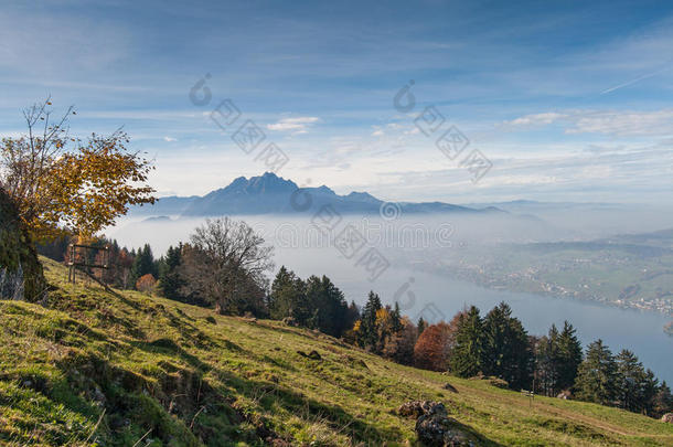
<instances>
[{"instance_id":1,"label":"pale band of low fog stretching beneath the distant blue mountains","mask_svg":"<svg viewBox=\"0 0 673 447\"><path fill-rule=\"evenodd\" d=\"M534 212L531 212L534 211ZM265 238L277 246L277 252L297 256L310 248L331 245L328 217L306 215L248 215L233 216L244 220ZM556 241L589 241L619 234L647 233L673 227L673 209L644 205L564 205L534 206L532 210L512 210L511 213L479 215L342 215L330 221L335 224L333 235L351 224L366 238L367 244L386 249L451 248L474 244L528 243ZM336 222L336 220L339 220ZM121 245L138 247L149 243L156 254L170 245L186 242L194 227L206 217L178 216L129 217L121 220L106 234ZM321 224L321 222L325 222ZM318 259L316 259L318 260Z\"/></svg>"}]
</instances>

